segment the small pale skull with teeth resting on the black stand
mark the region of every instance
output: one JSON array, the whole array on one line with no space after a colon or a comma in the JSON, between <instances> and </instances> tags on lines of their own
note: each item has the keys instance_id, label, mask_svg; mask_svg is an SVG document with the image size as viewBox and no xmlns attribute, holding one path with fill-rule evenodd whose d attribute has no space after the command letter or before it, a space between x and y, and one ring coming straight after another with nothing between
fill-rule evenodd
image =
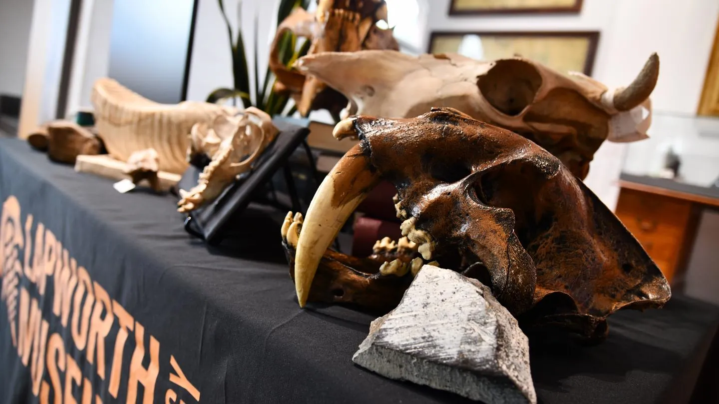
<instances>
[{"instance_id":1,"label":"small pale skull with teeth resting on the black stand","mask_svg":"<svg viewBox=\"0 0 719 404\"><path fill-rule=\"evenodd\" d=\"M205 154L211 162L195 187L180 190L182 199L178 202L178 211L192 211L214 201L227 185L252 169L252 163L277 134L270 116L252 106L245 109L242 116L218 115L211 125L196 124L191 130L188 159Z\"/></svg>"}]
</instances>

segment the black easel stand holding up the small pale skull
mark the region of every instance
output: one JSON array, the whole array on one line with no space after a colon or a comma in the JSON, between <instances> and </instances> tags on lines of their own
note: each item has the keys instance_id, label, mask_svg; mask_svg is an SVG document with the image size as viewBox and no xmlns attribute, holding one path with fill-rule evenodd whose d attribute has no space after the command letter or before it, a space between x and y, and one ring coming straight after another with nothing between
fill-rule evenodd
<instances>
[{"instance_id":1,"label":"black easel stand holding up the small pale skull","mask_svg":"<svg viewBox=\"0 0 719 404\"><path fill-rule=\"evenodd\" d=\"M273 175L280 168L283 169L285 174L292 209L293 211L301 211L297 188L287 161L297 147L302 144L306 149L313 179L315 181L319 179L314 158L306 141L309 129L306 127L306 120L303 119L275 118L273 123L280 129L280 134L262 153L262 156L257 159L252 171L229 185L212 203L197 208L191 214L188 214L185 219L185 230L188 233L205 240L208 244L214 245L221 242L224 226L227 222L232 216L244 211L244 208L247 207L257 191L261 190L262 186L271 183ZM303 124L304 127L301 126ZM200 168L191 165L183 174L178 187L189 190L197 184L198 176L201 172ZM273 205L279 205L276 199ZM285 206L278 207L285 208Z\"/></svg>"}]
</instances>

